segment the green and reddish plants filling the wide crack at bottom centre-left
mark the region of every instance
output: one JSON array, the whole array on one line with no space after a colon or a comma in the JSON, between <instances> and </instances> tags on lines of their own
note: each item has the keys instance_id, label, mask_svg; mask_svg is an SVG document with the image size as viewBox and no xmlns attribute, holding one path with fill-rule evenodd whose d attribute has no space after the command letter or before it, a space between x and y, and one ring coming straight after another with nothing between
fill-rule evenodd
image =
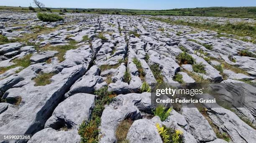
<instances>
[{"instance_id":1,"label":"green and reddish plants filling the wide crack at bottom centre-left","mask_svg":"<svg viewBox=\"0 0 256 143\"><path fill-rule=\"evenodd\" d=\"M81 136L80 143L97 143L100 130L98 129L101 122L101 115L106 104L110 104L116 96L113 92L108 91L108 87L103 87L95 91L97 100L92 110L90 121L83 121L79 126L78 134Z\"/></svg>"}]
</instances>

